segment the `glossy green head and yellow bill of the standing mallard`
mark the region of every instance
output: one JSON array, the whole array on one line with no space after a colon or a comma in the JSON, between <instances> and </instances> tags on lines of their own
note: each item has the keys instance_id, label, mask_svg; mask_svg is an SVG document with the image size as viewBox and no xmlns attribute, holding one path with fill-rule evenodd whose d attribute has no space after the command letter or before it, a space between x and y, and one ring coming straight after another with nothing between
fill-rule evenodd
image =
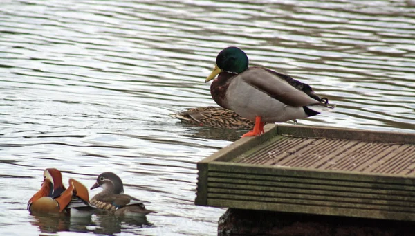
<instances>
[{"instance_id":1,"label":"glossy green head and yellow bill of the standing mallard","mask_svg":"<svg viewBox=\"0 0 415 236\"><path fill-rule=\"evenodd\" d=\"M225 48L216 57L214 69L205 82L213 80L222 71L233 74L242 73L248 69L248 62L248 56L241 48L235 46Z\"/></svg>"}]
</instances>

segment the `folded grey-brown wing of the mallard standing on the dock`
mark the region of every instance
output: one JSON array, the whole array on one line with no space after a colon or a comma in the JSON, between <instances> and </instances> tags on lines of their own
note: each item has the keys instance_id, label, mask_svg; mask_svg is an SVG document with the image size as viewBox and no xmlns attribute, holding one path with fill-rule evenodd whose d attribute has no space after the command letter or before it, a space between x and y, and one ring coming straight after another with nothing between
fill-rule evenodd
<instances>
[{"instance_id":1,"label":"folded grey-brown wing of the mallard standing on the dock","mask_svg":"<svg viewBox=\"0 0 415 236\"><path fill-rule=\"evenodd\" d=\"M268 96L279 100L279 102L282 102L285 105L304 107L320 103L319 100L312 98L303 90L293 87L293 85L284 79L282 74L276 73L275 71L254 66L243 71L243 73L239 73L236 77L246 82L246 84L255 87L259 91L268 94Z\"/></svg>"}]
</instances>

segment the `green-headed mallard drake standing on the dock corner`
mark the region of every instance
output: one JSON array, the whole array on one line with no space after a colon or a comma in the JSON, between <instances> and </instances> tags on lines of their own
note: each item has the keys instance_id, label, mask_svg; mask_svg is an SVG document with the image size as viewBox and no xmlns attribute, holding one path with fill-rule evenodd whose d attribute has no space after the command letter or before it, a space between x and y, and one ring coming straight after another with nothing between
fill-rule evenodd
<instances>
[{"instance_id":1,"label":"green-headed mallard drake standing on the dock corner","mask_svg":"<svg viewBox=\"0 0 415 236\"><path fill-rule=\"evenodd\" d=\"M320 98L308 84L260 66L248 67L248 56L240 48L223 49L205 82L218 77L210 86L214 101L243 118L255 120L252 131L264 133L264 123L286 122L315 116L333 109L327 98Z\"/></svg>"}]
</instances>

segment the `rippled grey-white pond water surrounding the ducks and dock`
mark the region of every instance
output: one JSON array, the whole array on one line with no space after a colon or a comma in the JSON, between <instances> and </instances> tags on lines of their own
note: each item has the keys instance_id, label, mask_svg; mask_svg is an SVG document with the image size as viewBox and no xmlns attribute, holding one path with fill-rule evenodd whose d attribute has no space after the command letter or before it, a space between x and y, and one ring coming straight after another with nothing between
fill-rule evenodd
<instances>
[{"instance_id":1,"label":"rippled grey-white pond water surrounding the ducks and dock","mask_svg":"<svg viewBox=\"0 0 415 236\"><path fill-rule=\"evenodd\" d=\"M0 19L1 235L215 235L224 210L194 206L196 162L241 132L169 114L215 105L204 79L226 46L338 105L299 125L415 129L414 1L3 0ZM159 213L33 217L46 167L86 186L116 172Z\"/></svg>"}]
</instances>

